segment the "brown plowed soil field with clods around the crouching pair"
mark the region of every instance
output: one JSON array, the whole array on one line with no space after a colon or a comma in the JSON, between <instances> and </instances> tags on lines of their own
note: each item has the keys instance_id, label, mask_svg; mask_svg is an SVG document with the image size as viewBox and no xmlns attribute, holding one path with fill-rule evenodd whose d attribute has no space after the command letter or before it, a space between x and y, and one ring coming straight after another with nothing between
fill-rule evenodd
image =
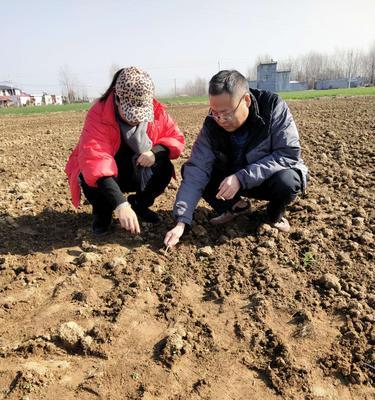
<instances>
[{"instance_id":1,"label":"brown plowed soil field with clods around the crouching pair","mask_svg":"<svg viewBox=\"0 0 375 400\"><path fill-rule=\"evenodd\" d=\"M292 230L265 203L195 224L91 235L64 165L84 112L0 117L0 399L329 399L375 395L375 96L291 102L310 169ZM207 106L170 107L189 156ZM178 173L179 176L179 173Z\"/></svg>"}]
</instances>

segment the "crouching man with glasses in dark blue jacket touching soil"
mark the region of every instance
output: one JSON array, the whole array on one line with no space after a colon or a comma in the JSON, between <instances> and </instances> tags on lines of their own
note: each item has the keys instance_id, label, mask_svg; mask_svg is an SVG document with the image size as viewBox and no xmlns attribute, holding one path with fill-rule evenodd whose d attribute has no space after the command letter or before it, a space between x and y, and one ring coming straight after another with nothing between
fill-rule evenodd
<instances>
[{"instance_id":1,"label":"crouching man with glasses in dark blue jacket touching soil","mask_svg":"<svg viewBox=\"0 0 375 400\"><path fill-rule=\"evenodd\" d=\"M238 71L220 71L209 84L210 111L190 159L182 167L174 216L177 225L164 243L174 246L203 197L218 216L211 223L232 221L247 211L241 196L268 200L269 223L290 230L286 206L307 182L297 127L286 103L276 94L249 89Z\"/></svg>"}]
</instances>

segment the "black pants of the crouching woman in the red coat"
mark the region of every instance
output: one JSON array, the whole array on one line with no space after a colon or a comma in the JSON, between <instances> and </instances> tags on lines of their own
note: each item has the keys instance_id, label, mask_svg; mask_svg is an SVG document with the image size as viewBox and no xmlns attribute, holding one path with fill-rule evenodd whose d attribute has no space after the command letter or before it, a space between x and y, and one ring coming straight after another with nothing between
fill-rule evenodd
<instances>
[{"instance_id":1,"label":"black pants of the crouching woman in the red coat","mask_svg":"<svg viewBox=\"0 0 375 400\"><path fill-rule=\"evenodd\" d=\"M155 199L160 196L168 186L173 175L173 164L167 155L156 157L152 169L152 177L148 181L146 187L141 191L140 184L135 177L134 167L131 158L122 162L121 169L118 171L118 177L114 178L123 193L135 192L135 200L139 207L151 207ZM80 175L82 191L92 205L93 214L112 213L113 205L108 197L100 188L88 186L84 181L82 174Z\"/></svg>"}]
</instances>

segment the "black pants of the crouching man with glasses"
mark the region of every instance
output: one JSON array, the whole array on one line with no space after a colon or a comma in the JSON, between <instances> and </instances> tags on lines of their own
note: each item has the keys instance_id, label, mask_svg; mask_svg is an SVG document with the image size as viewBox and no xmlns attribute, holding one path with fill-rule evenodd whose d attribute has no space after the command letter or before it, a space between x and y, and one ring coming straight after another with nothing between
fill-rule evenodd
<instances>
[{"instance_id":1,"label":"black pants of the crouching man with glasses","mask_svg":"<svg viewBox=\"0 0 375 400\"><path fill-rule=\"evenodd\" d=\"M300 172L295 169L285 169L276 172L257 187L250 190L240 189L231 200L219 200L216 198L219 185L228 175L225 171L214 169L202 195L207 203L219 214L229 211L240 199L240 196L243 196L258 200L268 200L267 214L270 222L280 221L285 213L286 206L302 191L302 176Z\"/></svg>"}]
</instances>

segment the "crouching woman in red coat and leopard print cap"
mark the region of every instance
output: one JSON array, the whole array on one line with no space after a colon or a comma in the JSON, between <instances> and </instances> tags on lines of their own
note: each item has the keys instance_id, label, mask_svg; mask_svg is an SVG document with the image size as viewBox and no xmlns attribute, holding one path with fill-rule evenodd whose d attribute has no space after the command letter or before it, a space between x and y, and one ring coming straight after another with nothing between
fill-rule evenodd
<instances>
[{"instance_id":1,"label":"crouching woman in red coat and leopard print cap","mask_svg":"<svg viewBox=\"0 0 375 400\"><path fill-rule=\"evenodd\" d=\"M112 83L86 116L79 143L65 167L72 201L80 188L93 212L93 233L107 232L112 213L132 233L138 217L156 223L150 210L174 173L170 159L180 156L184 137L154 98L150 76L136 67L116 72ZM127 197L124 192L135 192Z\"/></svg>"}]
</instances>

